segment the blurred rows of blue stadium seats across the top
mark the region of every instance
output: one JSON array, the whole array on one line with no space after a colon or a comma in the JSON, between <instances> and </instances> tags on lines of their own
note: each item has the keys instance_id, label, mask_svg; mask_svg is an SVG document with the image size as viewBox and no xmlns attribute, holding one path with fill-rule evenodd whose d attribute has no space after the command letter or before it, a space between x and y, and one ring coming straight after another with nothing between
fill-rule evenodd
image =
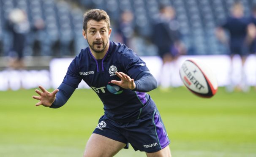
<instances>
[{"instance_id":1,"label":"blurred rows of blue stadium seats across the top","mask_svg":"<svg viewBox=\"0 0 256 157\"><path fill-rule=\"evenodd\" d=\"M113 23L118 22L120 13L131 10L135 14L133 23L142 39L148 40L152 33L152 24L158 18L160 5L173 5L180 22L182 40L188 48L188 54L225 54L226 48L215 37L215 27L229 15L229 8L235 0L0 0L0 56L8 55L11 35L5 24L13 8L21 8L27 13L30 24L43 19L45 29L38 35L28 35L28 47L25 55L69 56L78 54L87 46L82 38L82 14L88 8L104 9ZM249 16L251 6L256 0L241 0L245 6L245 15ZM80 7L72 4L78 3ZM82 6L82 7L81 7ZM113 25L113 27L115 27ZM114 33L114 31L113 31ZM41 53L35 54L31 44L38 40ZM140 54L148 53L145 45L139 45ZM149 42L142 42L148 43ZM152 47L152 45L151 45Z\"/></svg>"}]
</instances>

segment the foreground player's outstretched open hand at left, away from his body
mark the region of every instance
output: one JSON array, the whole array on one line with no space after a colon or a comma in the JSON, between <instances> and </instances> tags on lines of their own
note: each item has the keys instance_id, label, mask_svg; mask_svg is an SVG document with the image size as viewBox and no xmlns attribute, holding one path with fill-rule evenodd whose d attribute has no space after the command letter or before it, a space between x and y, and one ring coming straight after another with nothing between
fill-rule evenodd
<instances>
[{"instance_id":1,"label":"foreground player's outstretched open hand at left, away from his body","mask_svg":"<svg viewBox=\"0 0 256 157\"><path fill-rule=\"evenodd\" d=\"M59 91L59 89L55 89L53 92L50 93L42 86L39 86L39 88L41 89L42 92L38 89L35 89L35 92L39 96L35 96L35 95L33 96L34 99L40 100L38 103L35 104L35 106L40 106L40 105L43 105L45 107L51 106L55 100L55 96Z\"/></svg>"}]
</instances>

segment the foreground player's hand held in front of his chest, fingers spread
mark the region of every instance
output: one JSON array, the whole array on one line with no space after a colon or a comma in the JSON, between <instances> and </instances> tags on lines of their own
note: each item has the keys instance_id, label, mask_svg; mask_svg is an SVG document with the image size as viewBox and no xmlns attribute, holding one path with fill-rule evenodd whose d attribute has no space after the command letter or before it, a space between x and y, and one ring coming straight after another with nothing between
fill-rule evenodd
<instances>
[{"instance_id":1,"label":"foreground player's hand held in front of his chest, fingers spread","mask_svg":"<svg viewBox=\"0 0 256 157\"><path fill-rule=\"evenodd\" d=\"M121 78L121 81L112 80L112 84L116 84L117 86L120 86L124 89L134 89L136 87L133 78L130 78L130 76L126 75L123 72L116 72L116 74L118 77Z\"/></svg>"}]
</instances>

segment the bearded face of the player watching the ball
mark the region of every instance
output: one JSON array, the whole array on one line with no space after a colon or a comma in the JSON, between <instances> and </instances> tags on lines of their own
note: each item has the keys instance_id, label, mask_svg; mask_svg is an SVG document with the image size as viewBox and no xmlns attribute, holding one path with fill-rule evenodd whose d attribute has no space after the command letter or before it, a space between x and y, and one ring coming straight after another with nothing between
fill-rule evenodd
<instances>
[{"instance_id":1,"label":"bearded face of the player watching the ball","mask_svg":"<svg viewBox=\"0 0 256 157\"><path fill-rule=\"evenodd\" d=\"M83 30L83 36L95 53L107 51L106 46L109 42L111 28L108 28L105 21L89 20L85 31Z\"/></svg>"}]
</instances>

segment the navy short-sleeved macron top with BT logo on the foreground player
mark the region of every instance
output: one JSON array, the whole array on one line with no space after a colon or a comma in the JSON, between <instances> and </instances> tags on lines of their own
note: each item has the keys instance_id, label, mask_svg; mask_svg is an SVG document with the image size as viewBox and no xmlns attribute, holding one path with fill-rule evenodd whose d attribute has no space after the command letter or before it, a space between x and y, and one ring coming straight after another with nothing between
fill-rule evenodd
<instances>
[{"instance_id":1,"label":"navy short-sleeved macron top with BT logo on the foreground player","mask_svg":"<svg viewBox=\"0 0 256 157\"><path fill-rule=\"evenodd\" d=\"M121 80L116 71L137 80L139 74L146 70L146 63L131 49L110 41L109 50L101 60L93 57L89 47L82 49L69 65L63 83L77 88L84 80L100 97L109 118L130 122L152 111L155 103L147 93L123 89L112 84L111 80Z\"/></svg>"}]
</instances>

